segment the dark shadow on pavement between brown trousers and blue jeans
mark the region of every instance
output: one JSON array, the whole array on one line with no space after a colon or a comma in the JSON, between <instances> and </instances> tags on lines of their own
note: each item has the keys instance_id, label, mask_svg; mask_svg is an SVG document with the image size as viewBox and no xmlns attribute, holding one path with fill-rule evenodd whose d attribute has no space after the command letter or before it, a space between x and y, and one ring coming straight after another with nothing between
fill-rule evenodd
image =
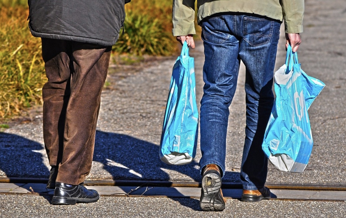
<instances>
[{"instance_id":1,"label":"dark shadow on pavement between brown trousers and blue jeans","mask_svg":"<svg viewBox=\"0 0 346 218\"><path fill-rule=\"evenodd\" d=\"M200 181L198 163L174 166L163 163L159 146L124 134L96 132L93 161L103 164L113 180L172 181L168 171L184 180ZM181 174L181 176L179 175ZM181 180L179 180L181 181Z\"/></svg>"}]
</instances>

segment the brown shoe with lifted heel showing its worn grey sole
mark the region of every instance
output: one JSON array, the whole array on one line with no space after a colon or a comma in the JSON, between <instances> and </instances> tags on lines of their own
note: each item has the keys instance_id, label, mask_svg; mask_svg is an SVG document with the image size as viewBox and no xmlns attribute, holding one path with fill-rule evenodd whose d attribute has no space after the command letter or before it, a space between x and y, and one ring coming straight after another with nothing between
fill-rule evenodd
<instances>
[{"instance_id":1,"label":"brown shoe with lifted heel showing its worn grey sole","mask_svg":"<svg viewBox=\"0 0 346 218\"><path fill-rule=\"evenodd\" d=\"M221 191L220 169L215 164L208 164L203 169L199 203L204 211L222 211L225 209L226 199Z\"/></svg>"}]
</instances>

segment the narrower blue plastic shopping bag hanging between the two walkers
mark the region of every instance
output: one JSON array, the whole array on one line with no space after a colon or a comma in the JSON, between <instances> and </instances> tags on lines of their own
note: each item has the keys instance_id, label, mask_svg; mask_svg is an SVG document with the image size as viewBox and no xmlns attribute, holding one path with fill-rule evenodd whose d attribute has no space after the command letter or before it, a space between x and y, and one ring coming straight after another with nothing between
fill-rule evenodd
<instances>
[{"instance_id":1,"label":"narrower blue plastic shopping bag hanging between the two walkers","mask_svg":"<svg viewBox=\"0 0 346 218\"><path fill-rule=\"evenodd\" d=\"M194 60L185 42L173 66L162 128L160 158L167 164L188 164L195 157L198 136L195 86Z\"/></svg>"}]
</instances>

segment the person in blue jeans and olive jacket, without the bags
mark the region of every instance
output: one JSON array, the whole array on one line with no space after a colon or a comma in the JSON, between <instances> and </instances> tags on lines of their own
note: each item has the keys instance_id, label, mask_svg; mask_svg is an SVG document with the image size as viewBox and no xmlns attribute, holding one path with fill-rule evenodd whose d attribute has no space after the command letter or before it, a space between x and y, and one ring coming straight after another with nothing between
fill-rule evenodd
<instances>
[{"instance_id":1,"label":"person in blue jeans and olive jacket, without the bags","mask_svg":"<svg viewBox=\"0 0 346 218\"><path fill-rule=\"evenodd\" d=\"M173 35L194 48L194 0L173 1ZM200 206L206 211L225 209L221 191L225 174L229 106L234 97L240 61L246 68L246 128L240 179L242 201L270 199L264 186L267 158L262 151L264 132L274 102L273 73L284 21L286 47L301 43L303 0L197 1L205 61L200 108Z\"/></svg>"}]
</instances>

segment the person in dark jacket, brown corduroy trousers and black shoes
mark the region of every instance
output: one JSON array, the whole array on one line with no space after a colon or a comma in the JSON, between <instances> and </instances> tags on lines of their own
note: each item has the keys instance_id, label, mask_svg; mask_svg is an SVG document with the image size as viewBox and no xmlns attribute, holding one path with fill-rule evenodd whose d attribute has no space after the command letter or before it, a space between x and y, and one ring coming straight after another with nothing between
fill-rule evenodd
<instances>
[{"instance_id":1,"label":"person in dark jacket, brown corduroy trousers and black shoes","mask_svg":"<svg viewBox=\"0 0 346 218\"><path fill-rule=\"evenodd\" d=\"M42 40L43 139L52 204L91 203L83 183L91 170L101 91L112 45L124 32L130 0L29 0L29 29Z\"/></svg>"}]
</instances>

